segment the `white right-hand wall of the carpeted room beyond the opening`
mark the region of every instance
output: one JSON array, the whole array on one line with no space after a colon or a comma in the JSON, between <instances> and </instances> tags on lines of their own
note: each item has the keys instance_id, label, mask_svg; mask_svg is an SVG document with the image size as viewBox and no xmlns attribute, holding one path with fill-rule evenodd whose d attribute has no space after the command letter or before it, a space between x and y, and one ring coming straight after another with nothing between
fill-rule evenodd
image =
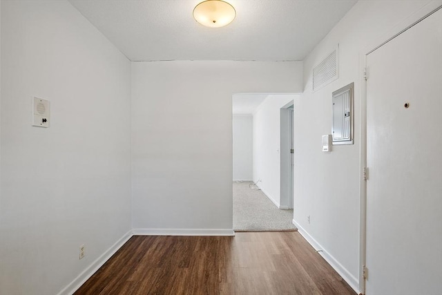
<instances>
[{"instance_id":1,"label":"white right-hand wall of the carpeted room beyond the opening","mask_svg":"<svg viewBox=\"0 0 442 295\"><path fill-rule=\"evenodd\" d=\"M253 181L280 207L280 110L296 95L269 95L253 114Z\"/></svg>"}]
</instances>

